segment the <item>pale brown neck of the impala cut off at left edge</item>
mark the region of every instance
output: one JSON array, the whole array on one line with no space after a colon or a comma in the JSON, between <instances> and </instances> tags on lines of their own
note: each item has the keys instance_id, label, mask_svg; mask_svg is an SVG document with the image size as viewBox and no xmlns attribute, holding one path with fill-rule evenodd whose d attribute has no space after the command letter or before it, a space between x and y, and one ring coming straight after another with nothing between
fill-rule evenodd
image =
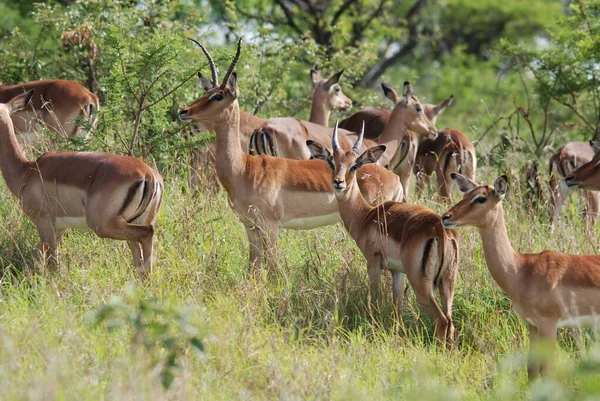
<instances>
[{"instance_id":1,"label":"pale brown neck of the impala cut off at left edge","mask_svg":"<svg viewBox=\"0 0 600 401\"><path fill-rule=\"evenodd\" d=\"M30 162L25 158L17 142L15 130L8 112L0 112L0 170L10 192L19 196L23 176Z\"/></svg>"}]
</instances>

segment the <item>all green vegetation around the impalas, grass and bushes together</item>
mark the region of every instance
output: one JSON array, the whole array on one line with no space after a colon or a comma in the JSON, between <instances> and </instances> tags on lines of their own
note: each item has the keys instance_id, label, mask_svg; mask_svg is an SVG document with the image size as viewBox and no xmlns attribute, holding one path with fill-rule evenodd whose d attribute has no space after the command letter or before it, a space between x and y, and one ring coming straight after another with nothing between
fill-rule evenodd
<instances>
[{"instance_id":1,"label":"all green vegetation around the impalas, grass and bushes together","mask_svg":"<svg viewBox=\"0 0 600 401\"><path fill-rule=\"evenodd\" d=\"M547 180L553 149L599 135L600 1L0 0L0 22L1 82L73 79L101 98L94 136L53 147L142 157L167 184L146 283L125 244L80 232L61 246L60 273L29 274L36 233L0 186L0 399L600 395L600 346L587 330L561 331L555 375L527 383L525 325L475 230L459 232L449 352L412 294L401 321L370 316L364 261L340 226L282 233L276 277L252 277L226 194L187 185L189 151L211 136L175 118L202 93L197 71L208 72L187 37L220 66L245 38L241 107L265 117L308 117L314 63L325 75L345 69L359 107L388 107L381 81L409 79L425 102L453 93L438 127L476 143L479 179L509 175L513 246L597 254L578 198L550 235L546 188L532 182ZM539 164L537 181L525 181L527 162ZM433 191L411 201L447 209Z\"/></svg>"}]
</instances>

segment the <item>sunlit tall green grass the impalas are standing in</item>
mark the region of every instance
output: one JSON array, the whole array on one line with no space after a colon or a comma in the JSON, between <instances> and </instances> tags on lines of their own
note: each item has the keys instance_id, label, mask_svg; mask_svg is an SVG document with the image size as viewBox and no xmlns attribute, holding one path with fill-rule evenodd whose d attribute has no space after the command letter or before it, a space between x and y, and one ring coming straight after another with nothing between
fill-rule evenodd
<instances>
[{"instance_id":1,"label":"sunlit tall green grass the impalas are standing in","mask_svg":"<svg viewBox=\"0 0 600 401\"><path fill-rule=\"evenodd\" d=\"M341 225L282 232L279 270L254 278L224 192L194 196L177 174L165 181L157 260L146 283L135 279L124 243L75 231L61 246L57 274L24 273L37 234L0 185L0 399L600 398L600 345L591 331L561 331L554 377L527 383L526 327L491 279L474 229L459 231L458 338L445 351L412 291L401 321L370 315L364 260ZM447 209L432 199L420 202ZM505 208L515 249L598 253L577 202L552 235L545 204L525 204L511 189ZM191 308L205 351L186 348L168 390L159 379L160 350L132 345L132 328L88 323L114 296Z\"/></svg>"}]
</instances>

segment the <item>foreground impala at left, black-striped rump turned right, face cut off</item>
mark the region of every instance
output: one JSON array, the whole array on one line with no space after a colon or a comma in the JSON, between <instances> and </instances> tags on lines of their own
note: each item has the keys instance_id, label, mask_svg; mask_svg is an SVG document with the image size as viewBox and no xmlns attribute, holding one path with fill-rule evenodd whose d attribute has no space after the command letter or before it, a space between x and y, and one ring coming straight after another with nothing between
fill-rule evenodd
<instances>
[{"instance_id":1,"label":"foreground impala at left, black-striped rump turned right, face cut off","mask_svg":"<svg viewBox=\"0 0 600 401\"><path fill-rule=\"evenodd\" d=\"M47 152L36 161L23 155L10 115L34 90L0 104L0 171L40 236L48 267L58 263L57 242L68 228L126 240L138 276L152 272L153 223L163 181L141 160L96 152Z\"/></svg>"}]
</instances>

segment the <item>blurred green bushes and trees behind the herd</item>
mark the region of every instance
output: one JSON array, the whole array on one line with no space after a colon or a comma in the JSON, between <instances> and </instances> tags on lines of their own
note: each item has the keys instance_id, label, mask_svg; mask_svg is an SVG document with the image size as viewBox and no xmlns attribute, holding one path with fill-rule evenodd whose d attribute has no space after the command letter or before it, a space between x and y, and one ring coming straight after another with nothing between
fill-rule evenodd
<instances>
[{"instance_id":1,"label":"blurred green bushes and trees behind the herd","mask_svg":"<svg viewBox=\"0 0 600 401\"><path fill-rule=\"evenodd\" d=\"M344 69L359 107L391 107L386 82L425 102L450 94L440 127L465 132L483 163L514 175L568 140L598 136L598 0L0 0L0 81L73 79L102 102L97 135L76 147L187 157L197 140L176 111L202 90L204 42L221 69L244 37L240 103L308 118L309 69ZM72 145L73 146L73 145ZM506 152L519 154L505 165ZM542 168L544 170L545 168Z\"/></svg>"}]
</instances>

